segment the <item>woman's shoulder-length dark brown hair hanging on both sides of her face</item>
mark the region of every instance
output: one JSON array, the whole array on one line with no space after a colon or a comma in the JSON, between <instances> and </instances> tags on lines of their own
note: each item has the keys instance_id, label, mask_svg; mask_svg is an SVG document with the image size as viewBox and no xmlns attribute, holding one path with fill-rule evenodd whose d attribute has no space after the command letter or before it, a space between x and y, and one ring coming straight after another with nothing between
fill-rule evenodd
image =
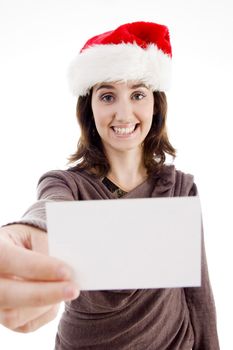
<instances>
[{"instance_id":1,"label":"woman's shoulder-length dark brown hair hanging on both sides of her face","mask_svg":"<svg viewBox=\"0 0 233 350\"><path fill-rule=\"evenodd\" d=\"M173 158L176 150L168 140L166 129L167 99L164 92L154 92L154 115L151 129L143 143L144 164L148 174L157 173L166 160L166 153ZM97 176L107 175L110 166L104 153L101 138L96 130L91 108L92 90L77 102L76 116L81 129L77 150L69 157L75 168L91 171Z\"/></svg>"}]
</instances>

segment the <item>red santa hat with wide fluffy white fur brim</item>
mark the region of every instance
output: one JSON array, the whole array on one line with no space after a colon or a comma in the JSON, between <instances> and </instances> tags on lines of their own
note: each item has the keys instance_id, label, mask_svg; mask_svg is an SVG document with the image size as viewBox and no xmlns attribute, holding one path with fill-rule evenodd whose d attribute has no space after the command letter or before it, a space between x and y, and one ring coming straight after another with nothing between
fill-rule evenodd
<instances>
[{"instance_id":1,"label":"red santa hat with wide fluffy white fur brim","mask_svg":"<svg viewBox=\"0 0 233 350\"><path fill-rule=\"evenodd\" d=\"M70 89L79 97L97 83L139 80L153 91L166 91L171 58L166 26L151 22L123 24L86 42L70 65Z\"/></svg>"}]
</instances>

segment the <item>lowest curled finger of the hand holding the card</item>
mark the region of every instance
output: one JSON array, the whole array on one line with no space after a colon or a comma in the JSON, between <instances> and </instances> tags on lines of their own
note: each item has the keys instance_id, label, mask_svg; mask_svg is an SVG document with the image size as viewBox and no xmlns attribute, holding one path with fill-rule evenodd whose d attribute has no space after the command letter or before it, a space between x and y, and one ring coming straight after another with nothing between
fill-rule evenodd
<instances>
[{"instance_id":1,"label":"lowest curled finger of the hand holding the card","mask_svg":"<svg viewBox=\"0 0 233 350\"><path fill-rule=\"evenodd\" d=\"M49 323L50 321L54 320L57 316L57 308L52 307L49 311L47 311L45 314L39 316L38 318L29 321L23 326L20 326L18 328L15 328L15 332L20 333L29 333L34 332L38 328L44 326L45 324Z\"/></svg>"}]
</instances>

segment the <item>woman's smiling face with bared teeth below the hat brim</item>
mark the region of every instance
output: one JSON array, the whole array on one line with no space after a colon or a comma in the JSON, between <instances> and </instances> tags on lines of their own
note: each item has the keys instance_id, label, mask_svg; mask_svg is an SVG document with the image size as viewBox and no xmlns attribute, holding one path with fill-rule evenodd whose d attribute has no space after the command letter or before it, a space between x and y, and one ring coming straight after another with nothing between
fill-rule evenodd
<instances>
[{"instance_id":1,"label":"woman's smiling face with bared teeth below the hat brim","mask_svg":"<svg viewBox=\"0 0 233 350\"><path fill-rule=\"evenodd\" d=\"M93 87L92 111L103 146L109 152L140 149L153 118L153 92L140 82Z\"/></svg>"}]
</instances>

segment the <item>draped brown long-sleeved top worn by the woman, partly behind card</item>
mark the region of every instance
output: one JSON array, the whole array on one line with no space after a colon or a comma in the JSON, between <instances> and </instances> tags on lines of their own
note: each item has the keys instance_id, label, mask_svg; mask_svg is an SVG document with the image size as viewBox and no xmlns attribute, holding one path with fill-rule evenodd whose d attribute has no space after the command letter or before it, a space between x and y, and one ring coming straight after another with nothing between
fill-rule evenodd
<instances>
[{"instance_id":1,"label":"draped brown long-sleeved top worn by the woman, partly behind card","mask_svg":"<svg viewBox=\"0 0 233 350\"><path fill-rule=\"evenodd\" d=\"M165 166L124 198L195 196L193 177ZM113 199L100 179L85 171L43 175L38 201L20 221L46 230L45 201ZM120 257L119 257L120 258ZM82 291L67 302L56 350L218 350L216 316L202 242L202 286L150 290Z\"/></svg>"}]
</instances>

